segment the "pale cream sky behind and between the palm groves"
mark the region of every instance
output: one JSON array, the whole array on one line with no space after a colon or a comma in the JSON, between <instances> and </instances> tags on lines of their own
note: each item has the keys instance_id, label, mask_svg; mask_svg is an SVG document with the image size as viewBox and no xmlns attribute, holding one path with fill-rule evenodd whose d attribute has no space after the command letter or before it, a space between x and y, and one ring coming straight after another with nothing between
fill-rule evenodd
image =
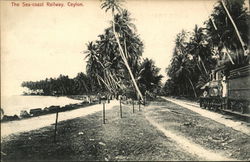
<instances>
[{"instance_id":1,"label":"pale cream sky behind and between the palm groves","mask_svg":"<svg viewBox=\"0 0 250 162\"><path fill-rule=\"evenodd\" d=\"M11 2L19 3L19 7ZM1 1L1 95L21 94L23 81L85 72L82 51L110 25L111 16L99 0L36 1L42 7L23 7L33 1ZM47 2L64 7L48 7ZM68 2L82 3L70 7ZM143 57L151 58L166 80L176 34L202 26L214 0L127 0L137 32L144 43Z\"/></svg>"}]
</instances>

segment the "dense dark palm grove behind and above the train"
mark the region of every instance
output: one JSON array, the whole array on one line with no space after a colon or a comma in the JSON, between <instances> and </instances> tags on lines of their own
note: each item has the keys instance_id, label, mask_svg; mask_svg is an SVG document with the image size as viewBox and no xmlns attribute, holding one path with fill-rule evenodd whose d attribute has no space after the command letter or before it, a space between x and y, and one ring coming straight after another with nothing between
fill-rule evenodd
<instances>
[{"instance_id":1,"label":"dense dark palm grove behind and above the train","mask_svg":"<svg viewBox=\"0 0 250 162\"><path fill-rule=\"evenodd\" d=\"M166 69L169 79L162 93L197 97L201 94L200 88L210 80L211 71L220 61L228 69L249 64L249 20L244 0L218 1L210 18L204 22L204 28L195 25L192 32L182 30L177 34L172 60Z\"/></svg>"}]
</instances>

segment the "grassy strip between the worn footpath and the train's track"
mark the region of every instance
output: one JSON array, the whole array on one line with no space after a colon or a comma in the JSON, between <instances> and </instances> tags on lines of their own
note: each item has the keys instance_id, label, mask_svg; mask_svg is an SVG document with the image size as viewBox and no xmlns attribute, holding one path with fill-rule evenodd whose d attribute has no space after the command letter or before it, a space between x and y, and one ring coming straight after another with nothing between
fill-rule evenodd
<instances>
[{"instance_id":1,"label":"grassy strip between the worn footpath and the train's track","mask_svg":"<svg viewBox=\"0 0 250 162\"><path fill-rule=\"evenodd\" d=\"M147 115L164 125L166 129L178 132L205 148L224 152L227 156L239 160L250 160L249 135L168 101L157 108L148 109Z\"/></svg>"}]
</instances>

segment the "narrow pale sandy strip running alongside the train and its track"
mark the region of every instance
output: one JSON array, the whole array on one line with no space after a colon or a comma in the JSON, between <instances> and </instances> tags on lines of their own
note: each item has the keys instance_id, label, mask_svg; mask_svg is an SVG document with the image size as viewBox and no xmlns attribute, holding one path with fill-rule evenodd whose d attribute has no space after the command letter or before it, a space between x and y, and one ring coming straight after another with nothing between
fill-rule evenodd
<instances>
[{"instance_id":1,"label":"narrow pale sandy strip running alongside the train and its track","mask_svg":"<svg viewBox=\"0 0 250 162\"><path fill-rule=\"evenodd\" d=\"M214 121L217 121L217 122L219 122L221 124L224 124L227 127L231 127L231 128L233 128L235 130L241 131L241 132L243 132L245 134L248 134L248 135L250 134L250 127L245 125L244 122L234 121L234 120L231 120L231 119L225 119L224 115L202 109L202 108L199 107L198 104L189 103L187 101L182 101L182 100L179 100L179 99L173 99L173 98L170 98L170 97L162 97L162 98L166 99L167 101L171 101L171 102L173 102L173 103L175 103L177 105L183 106L183 107L185 107L187 109L190 109L190 110L192 110L194 112L197 112L197 113L199 113L200 115L202 115L204 117L210 118L210 119L212 119Z\"/></svg>"}]
</instances>

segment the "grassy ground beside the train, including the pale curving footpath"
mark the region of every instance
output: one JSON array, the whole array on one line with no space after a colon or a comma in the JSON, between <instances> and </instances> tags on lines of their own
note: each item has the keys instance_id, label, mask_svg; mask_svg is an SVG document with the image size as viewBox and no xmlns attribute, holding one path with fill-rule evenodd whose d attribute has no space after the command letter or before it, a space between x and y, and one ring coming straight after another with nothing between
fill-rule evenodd
<instances>
[{"instance_id":1,"label":"grassy ground beside the train, including the pale curving footpath","mask_svg":"<svg viewBox=\"0 0 250 162\"><path fill-rule=\"evenodd\" d=\"M250 160L250 136L169 101L150 104L146 119L199 160Z\"/></svg>"}]
</instances>

